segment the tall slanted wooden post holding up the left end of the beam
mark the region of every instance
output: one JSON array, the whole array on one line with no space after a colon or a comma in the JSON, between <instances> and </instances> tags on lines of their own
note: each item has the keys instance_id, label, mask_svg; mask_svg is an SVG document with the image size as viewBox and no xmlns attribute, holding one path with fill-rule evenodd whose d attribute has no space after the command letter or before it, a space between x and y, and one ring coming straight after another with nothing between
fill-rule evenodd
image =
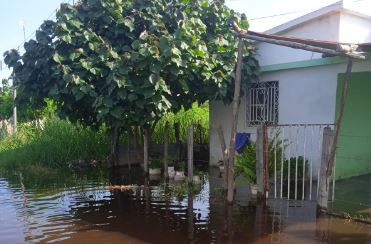
<instances>
[{"instance_id":1,"label":"tall slanted wooden post holding up the left end of the beam","mask_svg":"<svg viewBox=\"0 0 371 244\"><path fill-rule=\"evenodd\" d=\"M234 83L234 95L232 102L232 128L231 128L231 139L228 150L228 191L227 201L233 202L234 199L234 156L236 146L236 134L237 134L237 123L238 123L238 112L240 110L240 93L241 93L241 77L242 77L242 58L243 58L243 39L238 39L238 56L237 56L237 67L236 67L236 80Z\"/></svg>"}]
</instances>

